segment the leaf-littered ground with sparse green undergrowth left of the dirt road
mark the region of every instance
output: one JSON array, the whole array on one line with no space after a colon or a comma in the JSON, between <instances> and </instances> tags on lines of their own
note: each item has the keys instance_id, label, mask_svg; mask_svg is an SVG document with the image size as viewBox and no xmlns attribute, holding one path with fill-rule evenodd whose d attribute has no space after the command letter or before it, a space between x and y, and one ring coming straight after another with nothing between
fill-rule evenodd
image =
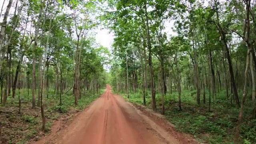
<instances>
[{"instance_id":1,"label":"leaf-littered ground with sparse green undergrowth left of the dirt road","mask_svg":"<svg viewBox=\"0 0 256 144\"><path fill-rule=\"evenodd\" d=\"M104 90L101 90L100 94L103 92ZM3 144L24 144L31 140L38 140L45 135L41 132L42 118L40 107L32 108L31 91L28 96L27 89L20 90L22 102L21 114L18 114L18 92L16 94L17 96L15 98L11 97L12 94L8 97L6 106L0 104ZM84 110L100 94L94 96L90 93L84 94L78 100L77 106L74 106L73 95L70 93L63 94L62 105L60 106L59 95L54 94L54 91L50 90L48 98L44 98L46 134L51 131L52 123L55 120Z\"/></svg>"}]
</instances>

